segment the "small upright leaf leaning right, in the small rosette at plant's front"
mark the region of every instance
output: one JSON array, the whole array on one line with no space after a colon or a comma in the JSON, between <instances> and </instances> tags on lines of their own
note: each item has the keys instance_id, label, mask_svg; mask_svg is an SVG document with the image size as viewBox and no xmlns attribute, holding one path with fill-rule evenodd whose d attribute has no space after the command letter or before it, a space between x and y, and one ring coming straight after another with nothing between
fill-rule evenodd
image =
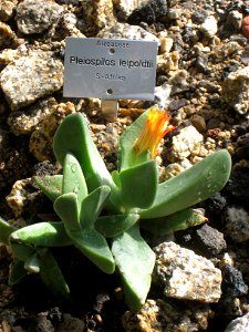
<instances>
[{"instance_id":1,"label":"small upright leaf leaning right, in the small rosette at plant's front","mask_svg":"<svg viewBox=\"0 0 249 332\"><path fill-rule=\"evenodd\" d=\"M82 201L80 215L82 229L94 228L94 222L101 214L110 193L111 189L108 186L101 186L85 197L85 199Z\"/></svg>"}]
</instances>

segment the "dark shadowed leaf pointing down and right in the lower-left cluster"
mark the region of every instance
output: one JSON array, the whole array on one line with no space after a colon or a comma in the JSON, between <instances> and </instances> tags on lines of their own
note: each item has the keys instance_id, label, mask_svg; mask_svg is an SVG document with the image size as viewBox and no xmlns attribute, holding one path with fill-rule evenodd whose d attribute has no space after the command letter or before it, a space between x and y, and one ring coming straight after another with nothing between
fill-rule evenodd
<instances>
[{"instance_id":1,"label":"dark shadowed leaf pointing down and right in the lower-left cluster","mask_svg":"<svg viewBox=\"0 0 249 332\"><path fill-rule=\"evenodd\" d=\"M52 252L46 248L39 248L38 253L41 264L40 274L44 284L55 297L70 299L69 286Z\"/></svg>"}]
</instances>

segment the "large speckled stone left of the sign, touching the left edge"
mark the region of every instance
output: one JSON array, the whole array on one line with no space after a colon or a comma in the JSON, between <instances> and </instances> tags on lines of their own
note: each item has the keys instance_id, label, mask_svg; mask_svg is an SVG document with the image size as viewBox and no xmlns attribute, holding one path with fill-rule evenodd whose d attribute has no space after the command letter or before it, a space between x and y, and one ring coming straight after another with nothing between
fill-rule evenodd
<instances>
[{"instance_id":1,"label":"large speckled stone left of the sign, touching the left edge","mask_svg":"<svg viewBox=\"0 0 249 332\"><path fill-rule=\"evenodd\" d=\"M63 64L48 51L30 51L8 64L0 74L6 98L15 111L52 94L63 84Z\"/></svg>"}]
</instances>

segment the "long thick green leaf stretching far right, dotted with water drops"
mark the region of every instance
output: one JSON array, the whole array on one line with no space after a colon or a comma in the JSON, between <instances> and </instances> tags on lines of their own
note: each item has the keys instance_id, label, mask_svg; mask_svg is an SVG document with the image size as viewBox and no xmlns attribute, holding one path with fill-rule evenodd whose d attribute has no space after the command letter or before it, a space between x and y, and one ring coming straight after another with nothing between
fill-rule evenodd
<instances>
[{"instance_id":1,"label":"long thick green leaf stretching far right, dotted with water drops","mask_svg":"<svg viewBox=\"0 0 249 332\"><path fill-rule=\"evenodd\" d=\"M200 203L222 189L229 179L231 158L221 149L191 168L158 185L154 204L139 211L142 219L159 218Z\"/></svg>"}]
</instances>

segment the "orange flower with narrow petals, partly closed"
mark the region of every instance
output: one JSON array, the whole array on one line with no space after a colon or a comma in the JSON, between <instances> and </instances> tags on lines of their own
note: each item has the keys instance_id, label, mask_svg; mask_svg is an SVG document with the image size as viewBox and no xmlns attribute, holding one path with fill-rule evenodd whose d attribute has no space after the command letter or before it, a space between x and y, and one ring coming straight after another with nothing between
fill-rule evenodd
<instances>
[{"instance_id":1,"label":"orange flower with narrow petals, partly closed","mask_svg":"<svg viewBox=\"0 0 249 332\"><path fill-rule=\"evenodd\" d=\"M149 151L151 157L155 158L160 139L168 132L172 132L176 128L173 125L168 125L170 117L166 111L154 108L149 110L144 129L134 144L136 154Z\"/></svg>"}]
</instances>

